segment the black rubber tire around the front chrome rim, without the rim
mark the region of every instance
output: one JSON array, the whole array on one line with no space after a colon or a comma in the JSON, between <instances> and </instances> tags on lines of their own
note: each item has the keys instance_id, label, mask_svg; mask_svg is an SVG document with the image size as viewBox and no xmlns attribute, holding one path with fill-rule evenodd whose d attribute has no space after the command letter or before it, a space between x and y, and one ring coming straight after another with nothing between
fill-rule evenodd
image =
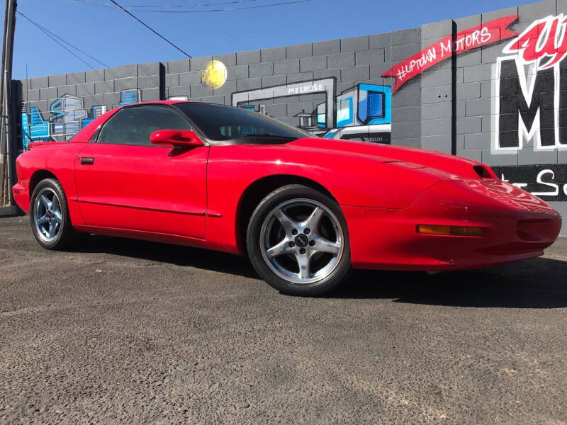
<instances>
[{"instance_id":1,"label":"black rubber tire around the front chrome rim, without the rim","mask_svg":"<svg viewBox=\"0 0 567 425\"><path fill-rule=\"evenodd\" d=\"M342 228L342 251L341 254L337 254L334 268L332 268L327 276L322 276L320 280L314 282L297 283L288 280L285 276L279 276L279 274L272 270L273 267L269 266L267 256L264 257L265 254L262 254L262 250L266 249L264 242L265 233L264 237L262 236L262 227L264 226L265 229L266 226L264 222L271 220L272 212L274 212L274 209L277 210L279 205L286 205L287 201L293 203L295 200L315 201L315 203L323 205L332 212L332 215L334 215L336 219L335 222L338 222ZM339 204L324 193L299 184L283 186L269 193L269 195L259 203L254 212L252 212L247 228L247 251L252 266L254 266L259 276L281 293L290 295L311 296L329 293L344 283L351 271L349 232L347 222L344 219ZM303 252L305 252L305 250L303 250ZM291 256L289 258L293 256L298 258L297 254L283 255ZM308 262L310 262L310 260L308 260ZM299 273L301 273L301 271ZM315 278L315 276L313 278Z\"/></svg>"}]
</instances>

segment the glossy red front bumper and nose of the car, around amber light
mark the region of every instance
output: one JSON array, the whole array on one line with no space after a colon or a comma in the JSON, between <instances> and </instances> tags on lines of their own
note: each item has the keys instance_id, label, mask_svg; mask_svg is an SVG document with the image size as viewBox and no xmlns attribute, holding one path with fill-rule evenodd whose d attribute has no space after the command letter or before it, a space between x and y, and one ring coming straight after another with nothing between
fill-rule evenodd
<instances>
[{"instance_id":1,"label":"glossy red front bumper and nose of the car, around amber light","mask_svg":"<svg viewBox=\"0 0 567 425\"><path fill-rule=\"evenodd\" d=\"M503 181L449 180L400 210L342 206L354 268L456 270L543 254L561 215ZM417 225L483 227L482 237L418 234Z\"/></svg>"}]
</instances>

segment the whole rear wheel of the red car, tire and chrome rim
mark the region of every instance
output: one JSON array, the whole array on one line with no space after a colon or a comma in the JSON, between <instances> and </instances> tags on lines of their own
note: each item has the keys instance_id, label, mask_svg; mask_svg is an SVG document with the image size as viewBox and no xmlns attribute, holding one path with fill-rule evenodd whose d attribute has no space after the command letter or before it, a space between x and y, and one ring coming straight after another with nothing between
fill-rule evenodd
<instances>
[{"instance_id":1,"label":"whole rear wheel of the red car, tire and chrome rim","mask_svg":"<svg viewBox=\"0 0 567 425\"><path fill-rule=\"evenodd\" d=\"M33 236L45 249L67 249L86 239L88 234L73 229L67 198L61 183L44 179L35 186L30 202Z\"/></svg>"}]
</instances>

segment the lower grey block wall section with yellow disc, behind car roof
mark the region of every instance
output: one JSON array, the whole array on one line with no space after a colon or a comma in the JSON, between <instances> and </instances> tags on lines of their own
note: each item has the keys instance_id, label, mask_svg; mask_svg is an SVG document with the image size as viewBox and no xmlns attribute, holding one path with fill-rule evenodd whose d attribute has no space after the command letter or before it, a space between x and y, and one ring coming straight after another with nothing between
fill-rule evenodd
<instances>
[{"instance_id":1,"label":"lower grey block wall section with yellow disc, behind car roof","mask_svg":"<svg viewBox=\"0 0 567 425\"><path fill-rule=\"evenodd\" d=\"M59 105L57 101L64 96L79 98L77 102L82 103L79 106L86 117L94 114L91 108L96 106L106 110L116 108L124 101L125 91L137 91L137 101L183 97L231 105L233 94L327 80L326 84L332 84L336 98L344 92L357 90L360 84L389 87L391 79L383 78L381 74L403 60L405 55L419 50L420 30L417 29L191 60L125 65L21 80L18 101L24 114L32 115L33 108L40 113L45 126L50 127L50 135L45 138L64 140L72 133L53 131L54 105ZM227 79L219 89L210 89L201 81L203 67L212 60L222 62L227 69ZM392 97L391 125L395 144L420 146L419 92L418 77ZM259 103L268 115L298 126L300 120L296 115L313 113L326 96L325 93L275 96ZM336 115L337 111L327 113ZM333 121L336 123L335 117ZM42 135L32 137L34 140L41 138Z\"/></svg>"}]
</instances>

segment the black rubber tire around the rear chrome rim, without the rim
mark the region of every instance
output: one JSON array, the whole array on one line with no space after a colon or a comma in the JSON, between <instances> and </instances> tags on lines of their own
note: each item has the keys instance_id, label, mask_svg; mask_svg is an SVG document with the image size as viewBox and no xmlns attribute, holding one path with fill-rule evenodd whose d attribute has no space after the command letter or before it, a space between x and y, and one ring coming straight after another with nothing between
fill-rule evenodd
<instances>
[{"instance_id":1,"label":"black rubber tire around the rear chrome rim, without the rim","mask_svg":"<svg viewBox=\"0 0 567 425\"><path fill-rule=\"evenodd\" d=\"M60 205L60 224L57 227L57 234L55 234L52 240L46 240L45 234L42 236L39 226L36 225L38 208L35 208L35 205L38 202L38 197L43 193L47 195L55 193ZM52 216L50 220L53 220ZM74 248L82 244L82 242L89 237L89 234L77 232L73 228L71 218L69 217L67 197L65 196L61 183L56 179L44 179L33 189L30 200L30 225L35 240L45 249L65 250Z\"/></svg>"}]
</instances>

